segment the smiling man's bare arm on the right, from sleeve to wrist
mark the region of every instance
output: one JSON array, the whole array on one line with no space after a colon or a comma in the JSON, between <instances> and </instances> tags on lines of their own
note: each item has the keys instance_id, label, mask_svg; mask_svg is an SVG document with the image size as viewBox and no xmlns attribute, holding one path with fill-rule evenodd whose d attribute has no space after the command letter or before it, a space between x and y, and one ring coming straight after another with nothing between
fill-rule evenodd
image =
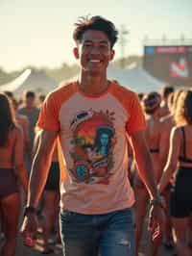
<instances>
[{"instance_id":1,"label":"smiling man's bare arm on the right, from sleeve to wrist","mask_svg":"<svg viewBox=\"0 0 192 256\"><path fill-rule=\"evenodd\" d=\"M150 194L151 199L156 197L156 181L154 176L154 167L150 152L145 140L145 133L139 131L131 135L134 157L138 167L138 174Z\"/></svg>"}]
</instances>

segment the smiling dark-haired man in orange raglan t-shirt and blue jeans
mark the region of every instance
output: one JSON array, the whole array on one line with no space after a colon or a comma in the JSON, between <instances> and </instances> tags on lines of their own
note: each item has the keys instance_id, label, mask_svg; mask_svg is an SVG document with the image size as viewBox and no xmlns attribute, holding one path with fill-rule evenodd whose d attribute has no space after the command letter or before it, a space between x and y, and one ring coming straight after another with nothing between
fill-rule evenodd
<instances>
[{"instance_id":1,"label":"smiling dark-haired man in orange raglan t-shirt and blue jeans","mask_svg":"<svg viewBox=\"0 0 192 256\"><path fill-rule=\"evenodd\" d=\"M117 34L113 23L100 16L76 24L74 55L80 62L80 79L50 93L38 119L43 131L32 167L23 234L36 232L36 206L59 136L63 154L60 163L64 162L60 232L66 256L98 255L98 251L101 256L134 255L128 135L152 199L150 227L154 237L162 224L162 203L144 140L146 124L138 98L107 79Z\"/></svg>"}]
</instances>

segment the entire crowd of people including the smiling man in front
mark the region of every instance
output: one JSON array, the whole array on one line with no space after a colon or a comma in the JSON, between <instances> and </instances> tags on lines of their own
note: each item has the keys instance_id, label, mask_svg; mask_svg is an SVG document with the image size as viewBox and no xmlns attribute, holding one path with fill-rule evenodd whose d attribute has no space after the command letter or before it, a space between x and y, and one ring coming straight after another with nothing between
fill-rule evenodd
<instances>
[{"instance_id":1,"label":"entire crowd of people including the smiling man in front","mask_svg":"<svg viewBox=\"0 0 192 256\"><path fill-rule=\"evenodd\" d=\"M0 93L2 256L15 255L23 209L24 243L42 218L43 254L56 230L66 256L137 256L147 217L151 256L162 243L192 255L192 90L136 95L108 81L117 35L103 17L83 19L78 82L46 98Z\"/></svg>"}]
</instances>

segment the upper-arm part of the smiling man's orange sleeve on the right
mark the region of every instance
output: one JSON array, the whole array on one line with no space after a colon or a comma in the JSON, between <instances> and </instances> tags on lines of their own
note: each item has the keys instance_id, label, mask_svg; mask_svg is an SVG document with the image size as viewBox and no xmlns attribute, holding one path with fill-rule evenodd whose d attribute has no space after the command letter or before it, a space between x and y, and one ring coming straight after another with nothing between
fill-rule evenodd
<instances>
[{"instance_id":1,"label":"upper-arm part of the smiling man's orange sleeve on the right","mask_svg":"<svg viewBox=\"0 0 192 256\"><path fill-rule=\"evenodd\" d=\"M126 131L129 135L132 135L134 132L143 131L146 129L146 120L139 99L133 92L130 102L129 119L126 124Z\"/></svg>"}]
</instances>

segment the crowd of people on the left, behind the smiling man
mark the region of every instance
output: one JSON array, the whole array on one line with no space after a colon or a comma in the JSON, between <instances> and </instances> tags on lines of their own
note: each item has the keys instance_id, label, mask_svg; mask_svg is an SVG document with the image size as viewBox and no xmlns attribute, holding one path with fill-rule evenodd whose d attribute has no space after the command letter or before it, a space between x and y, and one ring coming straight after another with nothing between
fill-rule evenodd
<instances>
[{"instance_id":1,"label":"crowd of people on the left, behind the smiling man","mask_svg":"<svg viewBox=\"0 0 192 256\"><path fill-rule=\"evenodd\" d=\"M19 219L27 202L30 169L36 154L38 133L36 121L42 104L42 96L28 90L23 98L16 99L11 91L0 93L0 168L1 168L1 255L15 255ZM39 204L38 216L43 218L44 253L51 252L48 239L54 228L59 238L60 169L57 149L53 155L49 178Z\"/></svg>"}]
</instances>

